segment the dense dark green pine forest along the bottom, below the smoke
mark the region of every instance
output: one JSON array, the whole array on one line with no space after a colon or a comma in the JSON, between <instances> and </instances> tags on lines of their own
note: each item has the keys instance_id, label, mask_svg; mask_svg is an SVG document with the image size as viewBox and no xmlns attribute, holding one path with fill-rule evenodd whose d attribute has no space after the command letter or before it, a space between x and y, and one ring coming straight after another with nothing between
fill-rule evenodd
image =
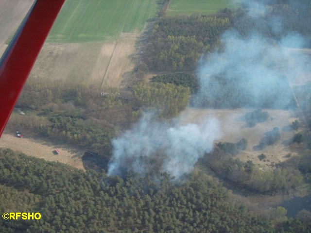
<instances>
[{"instance_id":1,"label":"dense dark green pine forest along the bottom, below the smoke","mask_svg":"<svg viewBox=\"0 0 311 233\"><path fill-rule=\"evenodd\" d=\"M234 204L220 183L198 171L176 185L166 174L107 177L104 171L83 172L8 149L0 149L0 162L0 195L6 200L1 211L42 215L37 221L3 220L1 232L281 233L311 228L310 222L290 219L274 229L273 220ZM252 166L244 167L251 174Z\"/></svg>"}]
</instances>

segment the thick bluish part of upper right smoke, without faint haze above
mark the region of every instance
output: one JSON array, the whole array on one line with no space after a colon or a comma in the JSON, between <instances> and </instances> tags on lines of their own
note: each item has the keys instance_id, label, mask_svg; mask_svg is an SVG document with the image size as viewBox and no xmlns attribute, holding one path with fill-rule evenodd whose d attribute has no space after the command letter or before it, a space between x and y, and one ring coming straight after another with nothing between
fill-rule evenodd
<instances>
[{"instance_id":1,"label":"thick bluish part of upper right smoke, without faint haze above","mask_svg":"<svg viewBox=\"0 0 311 233\"><path fill-rule=\"evenodd\" d=\"M295 106L289 81L305 72L309 59L286 47L301 48L304 39L299 34L288 34L276 44L259 34L245 39L230 31L222 41L222 52L201 61L201 91L194 104L216 108Z\"/></svg>"}]
</instances>

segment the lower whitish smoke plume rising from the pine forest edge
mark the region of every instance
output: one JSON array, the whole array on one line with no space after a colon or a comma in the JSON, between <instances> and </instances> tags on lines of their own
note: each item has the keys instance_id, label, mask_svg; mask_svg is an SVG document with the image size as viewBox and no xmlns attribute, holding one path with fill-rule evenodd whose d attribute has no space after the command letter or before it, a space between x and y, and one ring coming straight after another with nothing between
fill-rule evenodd
<instances>
[{"instance_id":1,"label":"lower whitish smoke plume rising from the pine forest edge","mask_svg":"<svg viewBox=\"0 0 311 233\"><path fill-rule=\"evenodd\" d=\"M177 179L189 173L220 137L215 118L187 125L180 125L177 120L170 126L155 122L151 114L146 114L132 130L112 141L114 153L108 175L122 175L129 168L144 175L156 168Z\"/></svg>"}]
</instances>

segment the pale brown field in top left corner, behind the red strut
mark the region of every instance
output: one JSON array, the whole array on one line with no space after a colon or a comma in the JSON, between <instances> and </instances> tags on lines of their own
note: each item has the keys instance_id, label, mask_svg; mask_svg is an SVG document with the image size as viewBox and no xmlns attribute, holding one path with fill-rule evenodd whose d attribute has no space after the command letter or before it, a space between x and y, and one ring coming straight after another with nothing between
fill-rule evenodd
<instances>
[{"instance_id":1,"label":"pale brown field in top left corner, behind the red strut","mask_svg":"<svg viewBox=\"0 0 311 233\"><path fill-rule=\"evenodd\" d=\"M0 0L0 48L17 30L35 0Z\"/></svg>"}]
</instances>

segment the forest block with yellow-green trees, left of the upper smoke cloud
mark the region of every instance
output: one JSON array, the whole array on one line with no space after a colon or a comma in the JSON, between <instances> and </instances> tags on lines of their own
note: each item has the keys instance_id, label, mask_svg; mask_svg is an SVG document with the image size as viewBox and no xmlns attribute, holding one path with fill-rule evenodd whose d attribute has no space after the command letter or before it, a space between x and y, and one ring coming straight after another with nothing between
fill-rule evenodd
<instances>
[{"instance_id":1,"label":"forest block with yellow-green trees, left of the upper smoke cloud","mask_svg":"<svg viewBox=\"0 0 311 233\"><path fill-rule=\"evenodd\" d=\"M160 18L148 37L144 62L155 71L192 71L200 55L214 48L229 27L226 17Z\"/></svg>"}]
</instances>

